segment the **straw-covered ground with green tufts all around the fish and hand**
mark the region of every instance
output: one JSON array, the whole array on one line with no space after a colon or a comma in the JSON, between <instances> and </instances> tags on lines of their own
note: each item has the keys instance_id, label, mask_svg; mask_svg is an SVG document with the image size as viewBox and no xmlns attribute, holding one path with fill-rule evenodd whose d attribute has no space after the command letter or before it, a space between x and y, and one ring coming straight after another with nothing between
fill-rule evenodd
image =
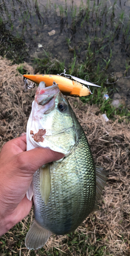
<instances>
[{"instance_id":1,"label":"straw-covered ground with green tufts all around the fish and hand","mask_svg":"<svg viewBox=\"0 0 130 256\"><path fill-rule=\"evenodd\" d=\"M11 66L11 61L0 58L0 66L2 146L6 141L25 132L35 92L30 90L27 94L22 93L23 83L21 75L17 72L18 65ZM71 67L69 68L71 72ZM25 63L25 67L21 66L20 69L21 72L25 69L29 73L32 67ZM101 72L98 68L99 74ZM97 93L98 97L95 100L102 104L100 89ZM96 91L92 97L96 97ZM106 104L109 100L105 101ZM97 105L84 104L75 98L70 98L69 101L88 137L94 162L105 167L109 173L108 185L99 202L103 210L89 215L75 232L65 236L51 236L44 248L28 250L25 248L24 240L32 223L31 211L29 216L1 237L1 256L129 256L130 123L126 123L125 120L122 123L118 122L118 116L115 121L104 123L98 115L100 109Z\"/></svg>"}]
</instances>

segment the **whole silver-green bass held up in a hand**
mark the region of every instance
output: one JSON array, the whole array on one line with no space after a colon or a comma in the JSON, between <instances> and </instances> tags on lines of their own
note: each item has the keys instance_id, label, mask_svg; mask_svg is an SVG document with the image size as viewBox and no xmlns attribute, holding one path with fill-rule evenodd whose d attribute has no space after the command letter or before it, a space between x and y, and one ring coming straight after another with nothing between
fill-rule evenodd
<instances>
[{"instance_id":1,"label":"whole silver-green bass held up in a hand","mask_svg":"<svg viewBox=\"0 0 130 256\"><path fill-rule=\"evenodd\" d=\"M42 165L27 191L35 220L25 238L28 249L45 245L51 233L73 232L98 209L106 173L95 166L90 145L67 98L56 84L40 82L27 124L27 150L50 148L64 157Z\"/></svg>"}]
</instances>

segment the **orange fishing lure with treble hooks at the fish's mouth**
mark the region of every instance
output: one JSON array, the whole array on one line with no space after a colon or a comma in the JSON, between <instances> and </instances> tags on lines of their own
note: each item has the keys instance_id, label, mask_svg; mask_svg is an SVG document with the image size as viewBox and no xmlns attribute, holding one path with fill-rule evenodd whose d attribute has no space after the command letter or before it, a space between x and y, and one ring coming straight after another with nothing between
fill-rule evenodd
<instances>
[{"instance_id":1,"label":"orange fishing lure with treble hooks at the fish's mouth","mask_svg":"<svg viewBox=\"0 0 130 256\"><path fill-rule=\"evenodd\" d=\"M72 97L82 97L92 94L89 86L100 87L97 86L97 84L65 73L66 70L64 70L64 73L61 73L60 75L23 75L23 81L24 84L27 84L27 78L37 84L44 81L46 87L56 84L64 95ZM84 86L84 84L88 87ZM28 85L28 87L30 86Z\"/></svg>"}]
</instances>

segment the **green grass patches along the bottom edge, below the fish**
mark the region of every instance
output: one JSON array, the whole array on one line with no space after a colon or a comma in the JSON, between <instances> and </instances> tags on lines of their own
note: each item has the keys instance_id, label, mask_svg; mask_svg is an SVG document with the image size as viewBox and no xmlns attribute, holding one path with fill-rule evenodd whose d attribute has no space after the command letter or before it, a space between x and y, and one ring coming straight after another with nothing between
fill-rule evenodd
<instances>
[{"instance_id":1,"label":"green grass patches along the bottom edge, below the fish","mask_svg":"<svg viewBox=\"0 0 130 256\"><path fill-rule=\"evenodd\" d=\"M28 221L30 222L29 219ZM21 255L27 255L27 254L24 254L25 253L25 250L24 250L25 232L22 231L22 228L23 226L21 223L16 225L15 228L13 229L13 232L8 233L6 236L6 239L3 238L1 240L0 251L2 256L13 255L13 253L16 256L19 256L19 253L16 249L16 244L17 244L17 248L22 248ZM5 246L9 246L7 241L11 242L10 237L12 237L12 240L14 240L14 246L11 246L10 249L6 250ZM55 240L55 237L53 239ZM97 243L100 240L101 238L98 238ZM47 248L39 249L37 255L63 256L63 255L72 255L73 253L74 255L83 255L83 256L85 256L86 253L88 256L93 256L93 255L104 256L105 253L106 255L110 255L109 252L107 252L106 250L106 246L97 247L95 244L89 244L88 241L91 241L90 235L86 236L86 234L84 233L75 231L74 233L70 233L68 234L68 236L65 236L65 238L63 238L62 240L62 244L64 244L65 247L67 248L66 250L67 252L64 251L64 246L55 245L49 250L47 250ZM31 256L36 255L36 250L29 251L29 255Z\"/></svg>"}]
</instances>

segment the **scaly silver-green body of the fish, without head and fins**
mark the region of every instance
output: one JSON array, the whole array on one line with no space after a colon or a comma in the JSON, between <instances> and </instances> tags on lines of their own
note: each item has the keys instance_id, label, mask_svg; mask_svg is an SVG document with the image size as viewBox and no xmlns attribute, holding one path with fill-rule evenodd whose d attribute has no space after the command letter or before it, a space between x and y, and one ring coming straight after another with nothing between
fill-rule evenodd
<instances>
[{"instance_id":1,"label":"scaly silver-green body of the fish, without head and fins","mask_svg":"<svg viewBox=\"0 0 130 256\"><path fill-rule=\"evenodd\" d=\"M35 220L55 234L75 230L90 213L95 202L94 162L91 153L86 154L89 145L81 127L80 129L81 139L71 155L60 163L50 164L51 191L47 205L41 198L40 185L37 185L40 184L39 171L33 179L34 191L36 190L34 205L39 206L39 210L34 210ZM80 155L84 160L82 165ZM76 165L73 164L75 160ZM91 164L88 165L88 162ZM40 209L43 209L42 212Z\"/></svg>"}]
</instances>

